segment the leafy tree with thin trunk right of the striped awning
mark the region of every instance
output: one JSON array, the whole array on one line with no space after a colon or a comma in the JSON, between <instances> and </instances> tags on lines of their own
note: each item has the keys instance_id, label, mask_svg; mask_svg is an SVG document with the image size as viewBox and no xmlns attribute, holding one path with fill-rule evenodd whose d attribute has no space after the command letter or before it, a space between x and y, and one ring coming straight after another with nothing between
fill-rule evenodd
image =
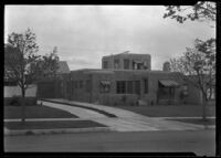
<instances>
[{"instance_id":1,"label":"leafy tree with thin trunk right of the striped awning","mask_svg":"<svg viewBox=\"0 0 221 158\"><path fill-rule=\"evenodd\" d=\"M197 39L194 48L187 48L182 56L170 60L171 71L185 74L185 80L200 89L202 94L202 118L206 120L207 91L211 89L215 82L215 40L202 41Z\"/></svg>"}]
</instances>

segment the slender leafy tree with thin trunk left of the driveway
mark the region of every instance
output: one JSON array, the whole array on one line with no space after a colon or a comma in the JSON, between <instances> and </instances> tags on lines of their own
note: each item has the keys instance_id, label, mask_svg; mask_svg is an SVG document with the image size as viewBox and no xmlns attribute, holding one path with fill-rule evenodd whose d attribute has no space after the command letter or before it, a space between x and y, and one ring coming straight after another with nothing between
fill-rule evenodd
<instances>
[{"instance_id":1,"label":"slender leafy tree with thin trunk left of the driveway","mask_svg":"<svg viewBox=\"0 0 221 158\"><path fill-rule=\"evenodd\" d=\"M38 51L36 35L30 29L24 33L12 32L4 45L4 77L15 81L21 88L22 123L25 122L25 91L42 76L48 66L48 57L38 55Z\"/></svg>"}]
</instances>

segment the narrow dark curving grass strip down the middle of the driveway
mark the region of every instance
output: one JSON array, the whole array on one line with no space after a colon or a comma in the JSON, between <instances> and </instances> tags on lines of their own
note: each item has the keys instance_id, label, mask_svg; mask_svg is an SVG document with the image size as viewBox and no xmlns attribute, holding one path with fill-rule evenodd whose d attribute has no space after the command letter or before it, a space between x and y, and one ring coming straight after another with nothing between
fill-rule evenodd
<instances>
[{"instance_id":1,"label":"narrow dark curving grass strip down the middle of the driveway","mask_svg":"<svg viewBox=\"0 0 221 158\"><path fill-rule=\"evenodd\" d=\"M87 106L82 106L82 105L75 105L75 104L71 104L71 103L63 103L63 102L59 102L59 101L49 101L49 99L42 99L42 101L45 101L45 102L51 102L51 103L56 103L56 104L64 104L64 105L70 105L70 106L76 106L76 107L81 107L81 108L85 108L85 109L91 109L91 110L94 110L94 112L97 112L99 114L103 114L107 117L117 117L116 115L114 114L110 114L110 113L107 113L105 110L102 110L102 109L97 109L97 108L94 108L94 107L87 107Z\"/></svg>"}]
</instances>

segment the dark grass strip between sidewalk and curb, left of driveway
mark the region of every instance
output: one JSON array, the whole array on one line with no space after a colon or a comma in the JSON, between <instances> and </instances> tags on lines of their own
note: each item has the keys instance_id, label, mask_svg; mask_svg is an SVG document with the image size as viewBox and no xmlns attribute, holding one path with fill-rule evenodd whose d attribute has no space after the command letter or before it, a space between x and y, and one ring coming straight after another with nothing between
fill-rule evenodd
<instances>
[{"instance_id":1,"label":"dark grass strip between sidewalk and curb, left of driveway","mask_svg":"<svg viewBox=\"0 0 221 158\"><path fill-rule=\"evenodd\" d=\"M88 127L106 127L92 120L44 120L44 122L7 122L4 126L11 130L21 129L54 129L54 128L88 128Z\"/></svg>"}]
</instances>

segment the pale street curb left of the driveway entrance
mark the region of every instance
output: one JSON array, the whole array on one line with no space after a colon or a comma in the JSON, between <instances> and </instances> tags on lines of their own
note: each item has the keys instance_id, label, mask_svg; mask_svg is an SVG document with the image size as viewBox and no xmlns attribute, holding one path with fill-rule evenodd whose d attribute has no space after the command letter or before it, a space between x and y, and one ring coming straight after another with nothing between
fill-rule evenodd
<instances>
[{"instance_id":1,"label":"pale street curb left of the driveway entrance","mask_svg":"<svg viewBox=\"0 0 221 158\"><path fill-rule=\"evenodd\" d=\"M92 128L55 128L55 129L25 129L9 130L4 128L6 136L18 135L45 135L45 134L72 134L72 133L90 133L90 131L110 131L109 127L92 127Z\"/></svg>"}]
</instances>

